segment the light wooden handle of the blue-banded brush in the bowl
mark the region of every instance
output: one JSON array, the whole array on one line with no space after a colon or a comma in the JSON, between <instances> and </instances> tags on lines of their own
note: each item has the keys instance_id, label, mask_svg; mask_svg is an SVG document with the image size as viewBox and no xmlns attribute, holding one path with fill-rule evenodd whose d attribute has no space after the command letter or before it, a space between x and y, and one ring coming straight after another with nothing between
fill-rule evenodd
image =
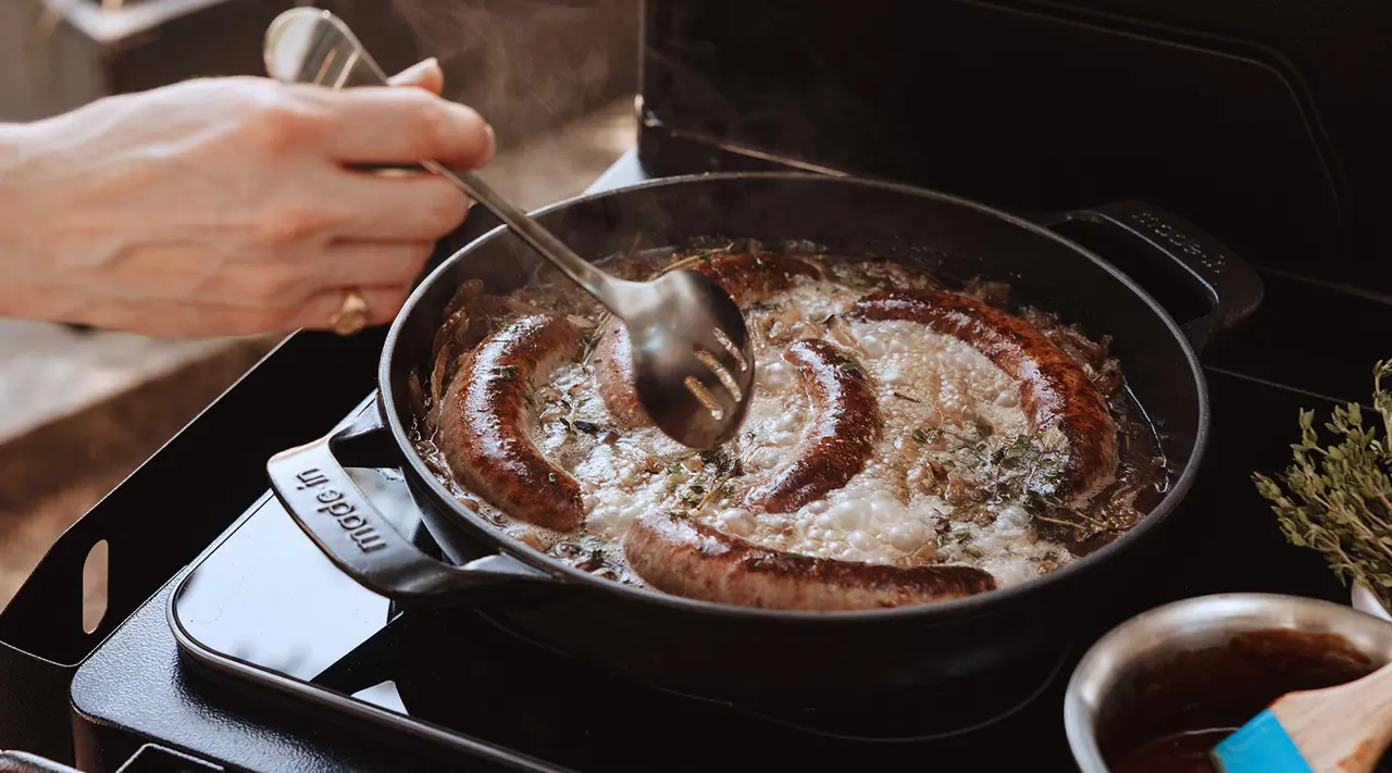
<instances>
[{"instance_id":1,"label":"light wooden handle of the blue-banded brush in the bowl","mask_svg":"<svg viewBox=\"0 0 1392 773\"><path fill-rule=\"evenodd\" d=\"M1271 710L1315 773L1371 773L1392 742L1392 664L1349 684L1292 692Z\"/></svg>"}]
</instances>

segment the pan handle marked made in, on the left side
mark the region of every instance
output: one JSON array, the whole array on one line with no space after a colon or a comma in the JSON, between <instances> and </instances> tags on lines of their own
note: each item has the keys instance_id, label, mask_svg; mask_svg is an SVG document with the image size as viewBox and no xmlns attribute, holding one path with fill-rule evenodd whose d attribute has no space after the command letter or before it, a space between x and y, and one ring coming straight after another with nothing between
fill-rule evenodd
<instances>
[{"instance_id":1,"label":"pan handle marked made in, on the left side","mask_svg":"<svg viewBox=\"0 0 1392 773\"><path fill-rule=\"evenodd\" d=\"M425 554L348 476L340 453L373 460L400 454L376 401L347 428L276 454L266 462L266 472L285 513L334 565L363 588L405 604L469 604L477 600L470 591L555 579L507 553L458 567Z\"/></svg>"}]
</instances>

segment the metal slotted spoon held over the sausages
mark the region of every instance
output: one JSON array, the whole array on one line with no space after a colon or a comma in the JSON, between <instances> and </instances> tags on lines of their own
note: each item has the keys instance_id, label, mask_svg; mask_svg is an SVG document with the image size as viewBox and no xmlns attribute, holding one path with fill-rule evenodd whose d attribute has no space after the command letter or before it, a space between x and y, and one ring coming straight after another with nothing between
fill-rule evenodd
<instances>
[{"instance_id":1,"label":"metal slotted spoon held over the sausages","mask_svg":"<svg viewBox=\"0 0 1392 773\"><path fill-rule=\"evenodd\" d=\"M386 85L387 75L348 25L299 7L266 31L266 71L285 82L334 89ZM720 284L692 270L626 281L594 267L466 170L420 166L462 188L628 327L633 382L653 422L674 440L714 448L739 429L754 389L753 347L739 308Z\"/></svg>"}]
</instances>

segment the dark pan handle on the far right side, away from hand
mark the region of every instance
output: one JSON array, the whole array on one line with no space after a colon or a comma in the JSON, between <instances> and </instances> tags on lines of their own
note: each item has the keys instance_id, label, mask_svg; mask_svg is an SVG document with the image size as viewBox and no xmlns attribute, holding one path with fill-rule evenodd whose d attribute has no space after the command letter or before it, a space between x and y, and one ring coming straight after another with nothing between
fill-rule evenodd
<instances>
[{"instance_id":1,"label":"dark pan handle on the far right side, away from hand","mask_svg":"<svg viewBox=\"0 0 1392 773\"><path fill-rule=\"evenodd\" d=\"M1261 304L1261 277L1251 266L1193 223L1158 206L1116 202L1044 216L1038 221L1043 226L1069 221L1101 226L1173 262L1187 283L1208 298L1208 313L1180 326L1196 351L1201 352L1215 333L1242 322Z\"/></svg>"}]
</instances>

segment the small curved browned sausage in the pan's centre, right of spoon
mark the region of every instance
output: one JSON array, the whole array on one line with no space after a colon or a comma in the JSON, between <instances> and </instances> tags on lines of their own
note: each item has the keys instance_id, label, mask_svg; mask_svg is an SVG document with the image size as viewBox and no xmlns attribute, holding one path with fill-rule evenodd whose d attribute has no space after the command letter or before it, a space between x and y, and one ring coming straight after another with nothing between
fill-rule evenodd
<instances>
[{"instance_id":1,"label":"small curved browned sausage in the pan's centre, right of spoon","mask_svg":"<svg viewBox=\"0 0 1392 773\"><path fill-rule=\"evenodd\" d=\"M745 503L792 513L846 485L866 467L884 435L869 373L831 341L796 341L784 350L812 396L814 419L793 460L749 490Z\"/></svg>"}]
</instances>

